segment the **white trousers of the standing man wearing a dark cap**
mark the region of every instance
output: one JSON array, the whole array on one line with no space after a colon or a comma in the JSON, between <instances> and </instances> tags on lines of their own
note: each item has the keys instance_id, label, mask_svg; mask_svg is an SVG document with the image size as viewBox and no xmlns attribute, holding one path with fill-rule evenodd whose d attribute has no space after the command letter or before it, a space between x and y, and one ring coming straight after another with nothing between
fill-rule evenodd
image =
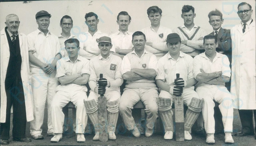
<instances>
[{"instance_id":1,"label":"white trousers of the standing man wearing a dark cap","mask_svg":"<svg viewBox=\"0 0 256 146\"><path fill-rule=\"evenodd\" d=\"M32 92L34 104L34 120L30 122L30 134L42 133L42 125L44 121L44 107L47 99L47 112L48 112L48 130L47 133L53 132L52 127L52 98L55 95L55 89L58 86L56 70L52 74L45 74L41 68L30 68L32 73Z\"/></svg>"}]
</instances>

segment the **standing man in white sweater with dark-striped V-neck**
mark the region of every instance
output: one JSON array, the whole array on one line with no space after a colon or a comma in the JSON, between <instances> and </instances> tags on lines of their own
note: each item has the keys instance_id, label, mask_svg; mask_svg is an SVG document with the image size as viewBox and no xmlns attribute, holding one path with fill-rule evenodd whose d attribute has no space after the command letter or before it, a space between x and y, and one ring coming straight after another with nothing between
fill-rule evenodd
<instances>
[{"instance_id":1,"label":"standing man in white sweater with dark-striped V-neck","mask_svg":"<svg viewBox=\"0 0 256 146\"><path fill-rule=\"evenodd\" d=\"M194 58L200 54L203 48L203 39L207 35L205 29L194 24L196 17L195 9L193 6L184 5L182 7L181 18L184 19L184 25L173 29L174 33L178 33L181 38L180 51L186 53Z\"/></svg>"}]
</instances>

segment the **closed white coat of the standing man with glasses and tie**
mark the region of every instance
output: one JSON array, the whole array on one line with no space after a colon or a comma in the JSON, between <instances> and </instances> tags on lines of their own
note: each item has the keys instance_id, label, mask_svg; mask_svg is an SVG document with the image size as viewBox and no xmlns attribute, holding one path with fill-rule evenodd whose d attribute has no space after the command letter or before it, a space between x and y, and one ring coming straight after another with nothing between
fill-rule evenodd
<instances>
[{"instance_id":1,"label":"closed white coat of the standing man with glasses and tie","mask_svg":"<svg viewBox=\"0 0 256 146\"><path fill-rule=\"evenodd\" d=\"M231 93L234 108L256 109L256 44L255 20L242 32L242 24L235 25L231 31L232 76Z\"/></svg>"}]
</instances>

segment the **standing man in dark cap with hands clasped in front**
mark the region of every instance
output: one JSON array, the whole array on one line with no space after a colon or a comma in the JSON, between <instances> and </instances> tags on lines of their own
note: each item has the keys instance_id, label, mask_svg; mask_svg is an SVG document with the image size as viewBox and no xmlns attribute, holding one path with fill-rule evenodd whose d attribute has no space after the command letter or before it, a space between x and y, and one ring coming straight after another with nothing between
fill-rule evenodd
<instances>
[{"instance_id":1,"label":"standing man in dark cap with hands clasped in front","mask_svg":"<svg viewBox=\"0 0 256 146\"><path fill-rule=\"evenodd\" d=\"M46 11L36 13L38 29L28 34L28 55L30 72L32 73L32 92L34 103L34 120L30 122L30 134L36 140L44 139L42 125L44 121L44 107L47 100L48 130L47 135L53 136L52 127L52 98L58 86L56 63L61 58L60 41L56 35L48 30L51 14Z\"/></svg>"}]
</instances>

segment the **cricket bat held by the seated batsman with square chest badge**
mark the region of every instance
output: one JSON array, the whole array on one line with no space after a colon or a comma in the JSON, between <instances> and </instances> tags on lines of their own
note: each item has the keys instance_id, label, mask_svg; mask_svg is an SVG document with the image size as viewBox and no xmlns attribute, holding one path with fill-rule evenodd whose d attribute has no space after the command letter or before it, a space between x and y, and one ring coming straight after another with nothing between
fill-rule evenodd
<instances>
[{"instance_id":1,"label":"cricket bat held by the seated batsman with square chest badge","mask_svg":"<svg viewBox=\"0 0 256 146\"><path fill-rule=\"evenodd\" d=\"M100 74L100 80L106 80L103 78L103 74ZM108 141L107 99L104 97L104 93L100 93L98 98L99 133L102 142Z\"/></svg>"}]
</instances>

